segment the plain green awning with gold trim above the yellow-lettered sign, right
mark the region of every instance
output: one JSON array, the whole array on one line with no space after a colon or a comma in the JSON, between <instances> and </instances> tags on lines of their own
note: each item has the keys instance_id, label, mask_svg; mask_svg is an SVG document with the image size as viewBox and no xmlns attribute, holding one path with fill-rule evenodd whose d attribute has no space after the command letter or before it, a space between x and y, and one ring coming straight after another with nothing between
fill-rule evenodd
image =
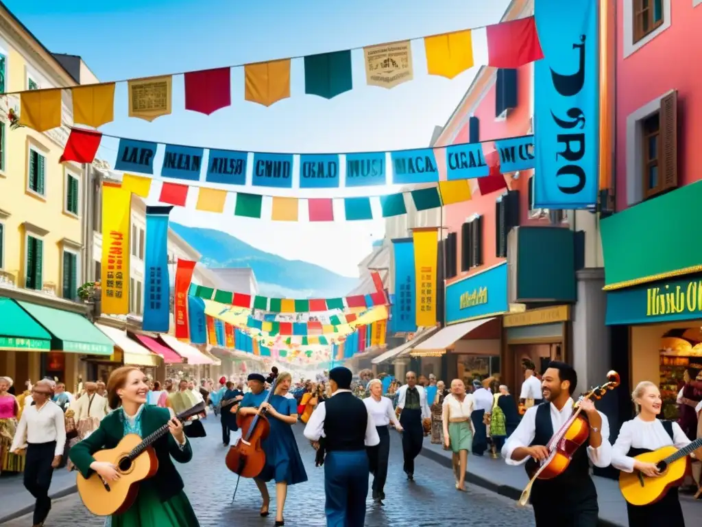
<instances>
[{"instance_id":1,"label":"plain green awning with gold trim above the yellow-lettered sign, right","mask_svg":"<svg viewBox=\"0 0 702 527\"><path fill-rule=\"evenodd\" d=\"M701 203L698 181L603 219L604 289L701 272Z\"/></svg>"}]
</instances>

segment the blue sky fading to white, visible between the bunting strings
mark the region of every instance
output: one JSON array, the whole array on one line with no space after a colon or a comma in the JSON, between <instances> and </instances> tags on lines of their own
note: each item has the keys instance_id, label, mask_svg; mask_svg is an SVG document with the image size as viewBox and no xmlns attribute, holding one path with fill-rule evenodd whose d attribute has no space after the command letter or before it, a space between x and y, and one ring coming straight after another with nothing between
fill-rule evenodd
<instances>
[{"instance_id":1,"label":"blue sky fading to white, visible between the bunting strings","mask_svg":"<svg viewBox=\"0 0 702 527\"><path fill-rule=\"evenodd\" d=\"M55 53L80 55L102 81L204 70L496 23L508 0L4 0ZM248 4L248 6L246 5ZM117 88L116 120L105 134L232 150L354 152L420 148L443 125L477 68L453 80L426 74L421 42L413 44L415 79L391 90L365 85L362 51L352 55L355 88L332 100L304 95L301 60L293 61L291 98L265 108L244 101L243 70L232 76L232 106L211 116L183 110L182 77L174 79L173 115L149 123L126 117L126 87ZM101 157L114 166L116 141ZM152 197L159 185L154 185ZM373 194L378 188L372 188ZM260 193L253 190L254 193ZM277 190L276 195L341 197L368 189ZM380 193L383 193L381 191ZM265 214L265 211L264 211ZM383 236L383 220L283 223L176 207L171 218L224 230L289 259L343 275ZM294 287L294 285L291 285Z\"/></svg>"}]
</instances>

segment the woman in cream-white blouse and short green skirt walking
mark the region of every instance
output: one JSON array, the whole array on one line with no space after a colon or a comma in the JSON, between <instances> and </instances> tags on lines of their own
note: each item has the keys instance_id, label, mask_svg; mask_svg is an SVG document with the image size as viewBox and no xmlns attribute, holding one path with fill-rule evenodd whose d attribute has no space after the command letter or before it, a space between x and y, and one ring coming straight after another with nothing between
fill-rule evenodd
<instances>
[{"instance_id":1,"label":"woman in cream-white blouse and short green skirt walking","mask_svg":"<svg viewBox=\"0 0 702 527\"><path fill-rule=\"evenodd\" d=\"M470 414L474 408L473 396L465 393L461 379L451 381L451 393L444 398L442 419L444 422L444 445L453 452L453 474L456 489L465 492L465 470L468 468L468 450L473 442Z\"/></svg>"}]
</instances>

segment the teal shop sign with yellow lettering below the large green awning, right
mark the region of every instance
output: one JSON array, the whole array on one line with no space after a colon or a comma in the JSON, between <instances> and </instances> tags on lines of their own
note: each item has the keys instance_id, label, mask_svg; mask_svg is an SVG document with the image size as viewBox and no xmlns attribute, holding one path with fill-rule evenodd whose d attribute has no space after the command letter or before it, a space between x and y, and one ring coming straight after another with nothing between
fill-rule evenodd
<instances>
[{"instance_id":1,"label":"teal shop sign with yellow lettering below the large green awning, right","mask_svg":"<svg viewBox=\"0 0 702 527\"><path fill-rule=\"evenodd\" d=\"M702 280L653 282L607 292L607 325L702 318Z\"/></svg>"}]
</instances>

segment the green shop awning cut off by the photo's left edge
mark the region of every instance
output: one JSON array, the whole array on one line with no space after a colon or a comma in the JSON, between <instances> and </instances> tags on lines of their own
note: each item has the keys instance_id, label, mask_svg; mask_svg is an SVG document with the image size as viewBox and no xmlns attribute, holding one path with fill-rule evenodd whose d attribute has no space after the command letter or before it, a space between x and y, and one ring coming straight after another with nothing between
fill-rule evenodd
<instances>
[{"instance_id":1,"label":"green shop awning cut off by the photo's left edge","mask_svg":"<svg viewBox=\"0 0 702 527\"><path fill-rule=\"evenodd\" d=\"M51 351L51 335L13 299L0 297L0 349Z\"/></svg>"}]
</instances>

